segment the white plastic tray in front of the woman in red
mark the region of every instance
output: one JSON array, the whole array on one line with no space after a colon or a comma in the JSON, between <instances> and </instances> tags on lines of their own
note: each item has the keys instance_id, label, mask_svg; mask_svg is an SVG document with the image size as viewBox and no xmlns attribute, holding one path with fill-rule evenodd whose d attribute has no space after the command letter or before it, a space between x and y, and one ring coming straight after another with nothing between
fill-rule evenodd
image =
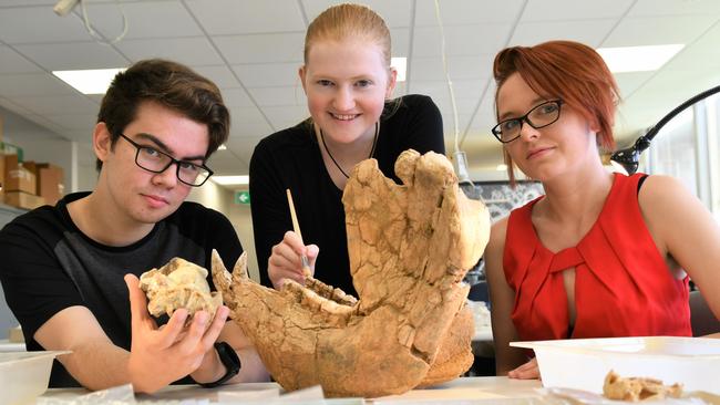
<instances>
[{"instance_id":1,"label":"white plastic tray in front of the woman in red","mask_svg":"<svg viewBox=\"0 0 720 405\"><path fill-rule=\"evenodd\" d=\"M720 339L606 338L513 342L535 351L543 385L603 393L605 376L654 377L720 394Z\"/></svg>"}]
</instances>

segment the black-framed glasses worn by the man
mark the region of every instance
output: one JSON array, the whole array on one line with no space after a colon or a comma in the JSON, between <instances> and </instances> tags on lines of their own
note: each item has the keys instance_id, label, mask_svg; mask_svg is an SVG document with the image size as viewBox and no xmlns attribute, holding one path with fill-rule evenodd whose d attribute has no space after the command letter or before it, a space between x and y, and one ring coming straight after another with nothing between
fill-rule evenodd
<instances>
[{"instance_id":1,"label":"black-framed glasses worn by the man","mask_svg":"<svg viewBox=\"0 0 720 405\"><path fill-rule=\"evenodd\" d=\"M191 162L178 160L154 147L140 145L125 136L125 134L120 134L120 136L135 146L137 149L135 153L135 164L142 169L152 173L163 173L173 164L176 164L177 179L183 184L193 187L202 186L213 175L213 170L205 165L196 165Z\"/></svg>"}]
</instances>

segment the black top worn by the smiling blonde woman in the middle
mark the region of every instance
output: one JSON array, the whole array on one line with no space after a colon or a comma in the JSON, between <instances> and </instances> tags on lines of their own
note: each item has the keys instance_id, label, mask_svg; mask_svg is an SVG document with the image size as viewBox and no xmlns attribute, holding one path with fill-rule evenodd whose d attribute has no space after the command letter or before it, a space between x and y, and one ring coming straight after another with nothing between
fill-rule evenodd
<instances>
[{"instance_id":1,"label":"black top worn by the smiling blonde woman in the middle","mask_svg":"<svg viewBox=\"0 0 720 405\"><path fill-rule=\"evenodd\" d=\"M385 112L391 108L389 104ZM401 97L397 111L381 118L372 157L387 177L400 183L394 164L409 148L421 154L445 153L440 111L424 95ZM307 122L264 138L250 159L253 228L263 284L271 287L267 266L272 246L292 229L287 188L292 193L304 242L320 248L315 277L357 295L350 276L342 190L332 183Z\"/></svg>"}]
</instances>

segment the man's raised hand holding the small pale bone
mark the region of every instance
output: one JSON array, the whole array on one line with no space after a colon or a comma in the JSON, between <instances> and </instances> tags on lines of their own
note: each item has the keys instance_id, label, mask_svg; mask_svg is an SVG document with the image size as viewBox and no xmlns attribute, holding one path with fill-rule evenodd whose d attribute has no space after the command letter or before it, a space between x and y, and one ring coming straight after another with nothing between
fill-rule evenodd
<instances>
[{"instance_id":1,"label":"man's raised hand holding the small pale bone","mask_svg":"<svg viewBox=\"0 0 720 405\"><path fill-rule=\"evenodd\" d=\"M137 277L126 274L125 283L130 290L132 314L127 373L134 391L152 393L195 372L200 364L216 365L215 362L203 362L203 359L208 352L208 357L215 355L213 344L225 325L229 313L227 307L218 308L214 320L209 320L205 311L196 312L188 326L185 326L187 311L179 309L167 324L158 329L147 313L147 299L138 287ZM209 322L212 324L207 328Z\"/></svg>"}]
</instances>

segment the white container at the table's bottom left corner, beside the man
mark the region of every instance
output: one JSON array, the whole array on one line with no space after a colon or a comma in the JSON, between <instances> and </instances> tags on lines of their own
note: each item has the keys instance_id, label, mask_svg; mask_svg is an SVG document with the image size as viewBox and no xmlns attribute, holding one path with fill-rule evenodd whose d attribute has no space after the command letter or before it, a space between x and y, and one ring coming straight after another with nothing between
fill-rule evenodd
<instances>
[{"instance_id":1,"label":"white container at the table's bottom left corner, beside the man","mask_svg":"<svg viewBox=\"0 0 720 405\"><path fill-rule=\"evenodd\" d=\"M34 404L48 390L52 360L64 353L0 353L0 404Z\"/></svg>"}]
</instances>

